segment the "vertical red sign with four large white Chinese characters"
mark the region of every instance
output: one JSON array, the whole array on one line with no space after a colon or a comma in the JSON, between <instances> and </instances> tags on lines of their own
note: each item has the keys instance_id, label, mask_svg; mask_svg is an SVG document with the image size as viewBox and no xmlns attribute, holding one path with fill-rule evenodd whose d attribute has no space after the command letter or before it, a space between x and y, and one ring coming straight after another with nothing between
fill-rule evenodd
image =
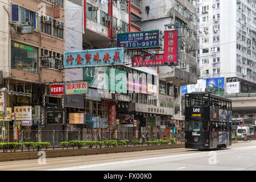
<instances>
[{"instance_id":1,"label":"vertical red sign with four large white Chinese characters","mask_svg":"<svg viewBox=\"0 0 256 182\"><path fill-rule=\"evenodd\" d=\"M178 31L164 31L164 58L168 64L173 63L174 65L178 64L177 61L177 42ZM172 65L173 65L172 64Z\"/></svg>"}]
</instances>

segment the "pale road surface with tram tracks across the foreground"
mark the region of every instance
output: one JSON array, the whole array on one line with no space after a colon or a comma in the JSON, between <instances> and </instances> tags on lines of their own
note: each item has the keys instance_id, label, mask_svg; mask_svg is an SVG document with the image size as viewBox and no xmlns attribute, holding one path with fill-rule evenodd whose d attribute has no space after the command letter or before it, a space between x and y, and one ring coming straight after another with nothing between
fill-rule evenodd
<instances>
[{"instance_id":1,"label":"pale road surface with tram tracks across the foreground","mask_svg":"<svg viewBox=\"0 0 256 182\"><path fill-rule=\"evenodd\" d=\"M47 157L47 156L46 156ZM44 163L45 162L45 163ZM185 148L0 162L7 171L232 171L256 170L256 141L216 151Z\"/></svg>"}]
</instances>

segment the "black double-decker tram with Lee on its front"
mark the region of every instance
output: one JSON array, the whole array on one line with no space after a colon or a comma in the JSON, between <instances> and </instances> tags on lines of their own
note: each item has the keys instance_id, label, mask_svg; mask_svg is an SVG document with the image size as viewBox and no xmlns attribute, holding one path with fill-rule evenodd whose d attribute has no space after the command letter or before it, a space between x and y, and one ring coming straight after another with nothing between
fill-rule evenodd
<instances>
[{"instance_id":1,"label":"black double-decker tram with Lee on its front","mask_svg":"<svg viewBox=\"0 0 256 182\"><path fill-rule=\"evenodd\" d=\"M204 92L185 94L185 148L231 146L232 101Z\"/></svg>"}]
</instances>

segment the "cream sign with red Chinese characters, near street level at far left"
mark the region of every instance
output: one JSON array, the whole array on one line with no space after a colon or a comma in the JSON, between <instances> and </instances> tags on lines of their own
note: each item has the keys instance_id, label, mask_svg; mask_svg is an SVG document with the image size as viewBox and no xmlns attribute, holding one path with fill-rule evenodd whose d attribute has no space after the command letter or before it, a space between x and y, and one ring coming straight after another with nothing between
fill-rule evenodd
<instances>
[{"instance_id":1,"label":"cream sign with red Chinese characters, near street level at far left","mask_svg":"<svg viewBox=\"0 0 256 182\"><path fill-rule=\"evenodd\" d=\"M14 106L16 121L32 121L32 106Z\"/></svg>"}]
</instances>

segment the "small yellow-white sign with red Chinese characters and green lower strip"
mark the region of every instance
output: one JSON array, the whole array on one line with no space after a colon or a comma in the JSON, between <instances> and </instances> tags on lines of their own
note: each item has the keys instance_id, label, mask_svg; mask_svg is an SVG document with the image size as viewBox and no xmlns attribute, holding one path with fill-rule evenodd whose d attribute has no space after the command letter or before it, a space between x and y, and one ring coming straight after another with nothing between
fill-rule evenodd
<instances>
[{"instance_id":1,"label":"small yellow-white sign with red Chinese characters and green lower strip","mask_svg":"<svg viewBox=\"0 0 256 182\"><path fill-rule=\"evenodd\" d=\"M65 84L65 93L67 95L88 93L88 82Z\"/></svg>"}]
</instances>

